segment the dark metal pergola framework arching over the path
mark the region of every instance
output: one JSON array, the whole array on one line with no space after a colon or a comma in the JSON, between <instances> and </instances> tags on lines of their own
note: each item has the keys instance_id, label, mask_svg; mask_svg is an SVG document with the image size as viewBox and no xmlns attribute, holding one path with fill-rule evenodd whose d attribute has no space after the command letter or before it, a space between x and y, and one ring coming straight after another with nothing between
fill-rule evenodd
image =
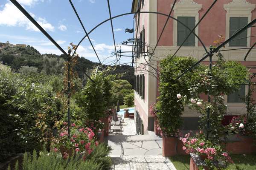
<instances>
[{"instance_id":1,"label":"dark metal pergola framework arching over the path","mask_svg":"<svg viewBox=\"0 0 256 170\"><path fill-rule=\"evenodd\" d=\"M61 48L61 46L60 45L58 45L58 43L47 33L47 31L45 31L44 30L44 28L42 28L34 19L33 19L33 17L17 2L17 0L10 0L64 55L66 55L66 56L69 56L62 48ZM167 20L166 20L166 23L165 23L165 26L166 26L166 24L167 24L167 22L168 22L168 20L169 20L169 18L172 18L173 20L176 20L177 22L179 22L180 24L182 24L183 26L185 26L189 31L190 31L190 33L189 33L189 35L186 37L186 39L190 36L190 34L194 34L195 35L195 37L197 37L198 38L198 40L201 42L201 44L203 45L203 48L204 48L204 50L206 51L206 53L205 54L207 54L206 56L203 56L203 58L202 59L200 59L197 63L195 63L195 65L193 65L192 67L190 67L190 68L188 68L185 72L183 72L180 76L178 76L177 77L177 79L179 79L180 77L182 77L183 75L185 75L188 71L191 71L196 65L198 65L200 62L202 62L202 61L204 61L207 57L209 57L209 68L211 69L211 67L212 67L212 56L213 56L213 54L214 53L216 53L216 52L218 52L218 51L220 51L220 49L225 45L225 44L227 44L228 42L230 42L231 40L233 40L233 38L235 38L238 34L240 34L242 31L244 31L244 30L247 30L247 28L250 28L250 27L254 27L253 26L253 24L255 24L256 23L256 19L254 19L253 21L251 21L250 23L248 23L246 26L244 26L243 28L241 28L239 31L237 31L234 35L232 35L228 40L226 40L225 42L223 42L223 43L221 43L221 45L219 45L217 48L214 48L214 49L212 49L212 48L210 48L210 51L207 51L207 48L205 47L205 45L204 45L204 43L201 41L201 39L198 37L198 35L196 35L193 31L194 31L194 29L199 25L199 23L201 22L201 20L207 15L207 13L208 13L208 11L212 8L212 6L214 6L214 4L218 1L218 0L214 0L214 2L212 3L212 5L207 9L207 11L206 11L206 13L204 14L204 16L201 18L201 20L196 24L196 26L191 30L190 28L188 28L184 23L182 23L182 22L180 22L179 20L177 20L177 19L175 19L174 17L171 17L171 13L172 13L172 10L173 10L173 8L174 8L174 6L175 6L175 3L176 3L176 1L177 0L175 0L174 1L174 3L173 3L173 5L172 5L172 8L171 8L171 11L170 11L170 14L169 15L167 15L167 14L163 14L163 13L160 13L160 12L154 12L154 11L140 11L140 8L141 8L141 3L140 3L140 1L139 1L139 6L140 6L140 8L139 8L139 10L137 11L137 12L129 12L129 13L125 13L125 14L119 14L119 15L116 15L116 16L114 16L114 17L112 17L111 16L111 8L110 8L110 4L109 4L109 0L107 0L108 1L108 10L109 10L109 14L110 14L110 18L109 19L107 19L107 20L105 20L105 21L103 21L102 23L99 23L97 26L95 26L92 30L90 30L89 32L87 32L86 31L86 29L84 28L84 25L83 25L83 23L81 22L81 19L80 19L80 17L79 17L79 14L77 13L77 11L76 11L76 8L73 6L73 3L72 3L72 1L71 0L69 0L69 2L70 2L70 4L71 4L71 6L72 6L72 8L73 8L73 10L75 11L75 13L76 13L76 16L77 16L77 18L79 19L79 22L80 22L80 24L81 24L81 26L83 27L83 29L84 29L84 32L85 32L85 36L80 40L80 42L78 43L78 45L76 46L76 49L74 50L74 52L73 52L73 55L76 53L76 50L77 50L77 48L79 47L79 45L81 44L81 42L86 38L86 37L88 37L88 40L90 41L90 44L91 44L91 46L92 46L92 48L93 48L93 51L95 52L95 54L96 54L96 56L97 56L97 58L99 59L99 57L98 57L98 55L97 55L97 53L96 53L96 50L95 50L95 48L94 48L94 46L93 46L93 44L92 44L92 42L91 42L91 40L90 40L90 38L89 38L89 34L92 32L92 31L94 31L97 27L99 27L99 26L101 26L103 23L105 23L105 22L107 22L107 21L111 21L111 30L112 30L112 34L113 34L113 42L114 42L114 48L115 48L115 53L116 53L116 44L115 44L115 37L114 37L114 33L113 33L113 23L112 23L112 20L114 19L114 18L117 18L117 17L122 17L122 16L124 16L124 15L128 15L128 14L139 14L139 20L138 20L138 26L139 26L139 22L140 22L140 14L142 14L142 13L148 13L148 14L160 14L160 15L164 15L164 16L166 16L166 17L168 17L167 18ZM163 27L163 29L162 29L162 32L161 32L161 34L160 34L160 37L159 37L159 39L157 40L157 44L158 44L158 42L159 42L159 40L160 40L160 38L161 38L161 35L162 35L162 33L163 33L163 31L164 31L164 28L165 28L165 26ZM137 31L138 31L138 29L137 29ZM137 34L136 34L136 38L137 38ZM186 39L184 40L184 42L186 41ZM183 43L184 43L183 42ZM183 43L182 43L182 45L183 45ZM152 55L151 55L151 57L153 56L153 54L154 54L154 51L155 51L155 49L156 49L156 47L157 47L157 44L155 45L155 47L154 47L154 50L153 50L153 53L152 53ZM180 47L177 49L177 51L179 51L179 49L181 48L181 46L182 45L180 45ZM243 49L249 49L249 51L247 52L247 54L246 54L246 56L244 57L244 60L247 58L247 56L248 56L248 54L250 53L250 51L254 48L254 46L256 45L256 42L253 44L253 46L252 47L250 47L250 48L243 48ZM242 49L242 48L237 48L236 50L239 50L239 49ZM234 50L234 49L230 49L230 50ZM177 51L175 52L175 54L177 53ZM224 50L223 50L224 51ZM228 51L228 50L225 50L225 51ZM175 55L174 54L174 55ZM173 55L173 56L174 56ZM173 57L172 56L172 57ZM149 60L151 59L151 57L149 58ZM121 57L119 57L119 59L120 59ZM116 55L116 63L117 62L119 62L119 59L117 58L117 55ZM148 60L148 61L149 61ZM146 61L147 62L147 61ZM99 63L102 65L102 62L100 61L100 59L99 59ZM115 64L116 64L115 63ZM144 63L143 63L144 64ZM147 62L147 64L146 65L150 65L148 62ZM145 65L145 66L146 66ZM69 65L70 66L70 65ZM145 68L145 66L144 66L144 68ZM143 69L144 69L143 68ZM86 73L84 73L85 75L86 75L86 77L88 78L88 79L90 79L90 81L92 81L93 82L93 80L90 78L90 76L88 76ZM69 83L69 93L70 93L70 81L68 81ZM70 96L70 95L68 95L68 96ZM208 92L208 102L210 102L210 97L209 97L209 92ZM209 119L209 113L207 114L207 118ZM68 127L70 126L70 111L69 111L69 109L68 109ZM209 127L209 121L208 121L208 124L207 124L207 129L208 129L208 127ZM70 132L70 130L69 130L69 128L68 128L68 133ZM70 133L69 133L69 135L70 135ZM209 135L209 133L208 133L208 130L207 130L207 139L208 139L208 135Z\"/></svg>"}]
</instances>

